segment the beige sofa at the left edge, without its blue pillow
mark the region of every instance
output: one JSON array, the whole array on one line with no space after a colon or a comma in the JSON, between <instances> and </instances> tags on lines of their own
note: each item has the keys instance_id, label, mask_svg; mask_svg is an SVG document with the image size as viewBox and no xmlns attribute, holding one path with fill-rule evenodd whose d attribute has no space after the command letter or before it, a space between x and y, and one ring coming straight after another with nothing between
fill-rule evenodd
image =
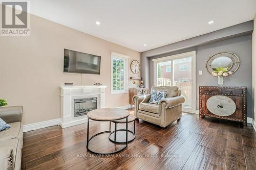
<instances>
[{"instance_id":1,"label":"beige sofa at the left edge, without its blue pillow","mask_svg":"<svg viewBox=\"0 0 256 170\"><path fill-rule=\"evenodd\" d=\"M0 107L0 117L11 126L0 131L0 169L21 167L23 147L22 106Z\"/></svg>"}]
</instances>

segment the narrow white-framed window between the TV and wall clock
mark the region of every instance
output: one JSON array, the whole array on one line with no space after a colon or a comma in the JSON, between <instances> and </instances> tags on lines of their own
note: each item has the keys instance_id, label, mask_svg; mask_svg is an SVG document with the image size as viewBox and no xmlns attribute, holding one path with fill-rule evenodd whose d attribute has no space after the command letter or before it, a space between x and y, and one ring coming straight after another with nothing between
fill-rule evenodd
<instances>
[{"instance_id":1,"label":"narrow white-framed window between the TV and wall clock","mask_svg":"<svg viewBox=\"0 0 256 170\"><path fill-rule=\"evenodd\" d=\"M127 93L128 56L111 53L111 93Z\"/></svg>"}]
</instances>

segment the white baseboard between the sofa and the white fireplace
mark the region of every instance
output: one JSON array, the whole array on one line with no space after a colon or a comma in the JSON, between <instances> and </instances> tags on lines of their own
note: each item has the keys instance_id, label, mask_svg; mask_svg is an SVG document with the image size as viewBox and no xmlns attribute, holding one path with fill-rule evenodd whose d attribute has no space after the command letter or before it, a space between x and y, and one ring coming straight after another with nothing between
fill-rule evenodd
<instances>
[{"instance_id":1,"label":"white baseboard between the sofa and the white fireplace","mask_svg":"<svg viewBox=\"0 0 256 170\"><path fill-rule=\"evenodd\" d=\"M46 128L49 126L59 125L59 118L46 120L44 122L38 122L34 124L28 124L23 126L23 132L29 132L36 129Z\"/></svg>"}]
</instances>

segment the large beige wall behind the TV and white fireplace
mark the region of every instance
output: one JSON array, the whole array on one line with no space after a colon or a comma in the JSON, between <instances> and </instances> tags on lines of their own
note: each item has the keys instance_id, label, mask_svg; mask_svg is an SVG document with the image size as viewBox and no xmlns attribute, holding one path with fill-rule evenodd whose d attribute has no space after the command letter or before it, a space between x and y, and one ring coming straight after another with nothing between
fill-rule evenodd
<instances>
[{"instance_id":1,"label":"large beige wall behind the TV and white fireplace","mask_svg":"<svg viewBox=\"0 0 256 170\"><path fill-rule=\"evenodd\" d=\"M30 36L0 37L0 98L9 106L24 106L25 125L59 118L58 86L82 84L81 74L63 73L63 48L101 56L101 74L85 75L85 85L108 85L106 107L129 104L127 93L110 94L110 53L130 56L131 63L140 62L139 52L31 15ZM129 69L131 76L140 72L134 75Z\"/></svg>"}]
</instances>

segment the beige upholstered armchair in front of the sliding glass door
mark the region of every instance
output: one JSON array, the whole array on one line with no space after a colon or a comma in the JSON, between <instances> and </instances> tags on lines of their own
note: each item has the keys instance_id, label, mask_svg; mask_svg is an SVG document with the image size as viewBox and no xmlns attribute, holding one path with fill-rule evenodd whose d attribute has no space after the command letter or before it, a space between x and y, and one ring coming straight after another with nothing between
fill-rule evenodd
<instances>
[{"instance_id":1,"label":"beige upholstered armchair in front of the sliding glass door","mask_svg":"<svg viewBox=\"0 0 256 170\"><path fill-rule=\"evenodd\" d=\"M153 86L151 92L167 91L165 99L160 100L159 104L148 103L151 94L135 95L133 102L135 104L136 118L145 120L160 127L165 128L176 120L180 120L182 114L182 104L185 102L183 96L180 96L180 90L177 86Z\"/></svg>"}]
</instances>

